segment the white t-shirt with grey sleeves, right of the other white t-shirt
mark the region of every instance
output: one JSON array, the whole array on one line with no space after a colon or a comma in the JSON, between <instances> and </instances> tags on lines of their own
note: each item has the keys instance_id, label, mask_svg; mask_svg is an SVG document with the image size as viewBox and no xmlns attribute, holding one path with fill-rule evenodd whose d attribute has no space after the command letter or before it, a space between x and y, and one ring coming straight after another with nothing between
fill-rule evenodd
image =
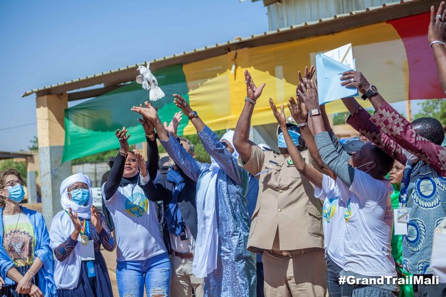
<instances>
[{"instance_id":1,"label":"white t-shirt with grey sleeves, right of the other white t-shirt","mask_svg":"<svg viewBox=\"0 0 446 297\"><path fill-rule=\"evenodd\" d=\"M393 209L389 180L376 180L355 169L349 189L336 179L339 198L350 200L351 217L346 223L344 240L344 271L363 276L396 276L395 262L390 254Z\"/></svg>"}]
</instances>

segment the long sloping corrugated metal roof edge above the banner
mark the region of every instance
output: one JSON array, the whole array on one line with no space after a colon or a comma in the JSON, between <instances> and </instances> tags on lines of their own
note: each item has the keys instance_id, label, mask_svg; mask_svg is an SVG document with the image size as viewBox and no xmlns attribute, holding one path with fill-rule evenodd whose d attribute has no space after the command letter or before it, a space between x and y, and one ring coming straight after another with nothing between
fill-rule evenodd
<instances>
[{"instance_id":1,"label":"long sloping corrugated metal roof edge above the banner","mask_svg":"<svg viewBox=\"0 0 446 297\"><path fill-rule=\"evenodd\" d=\"M353 11L348 14L337 14L331 18L305 22L274 31L263 32L263 34L251 35L246 38L228 40L226 43L217 43L215 45L208 45L204 48L183 51L183 53L164 56L148 62L150 62L150 69L153 71L172 64L187 64L211 58L213 56L220 56L235 49L281 43L296 40L298 38L307 38L320 34L338 32L342 29L359 27L361 25L377 23L388 19L397 19L403 16L419 14L421 12L429 11L431 5L438 5L438 0L401 0L400 3L384 3L380 6L366 8L365 10ZM37 93L38 96L64 93L97 84L110 84L112 82L113 84L121 84L123 82L130 82L134 80L137 75L135 72L137 67L145 65L146 63L147 62L132 64L126 67L88 75L84 78L44 86L43 88L33 88L32 90L25 92L22 97L33 93ZM81 99L79 97L80 96L77 96L77 99Z\"/></svg>"}]
</instances>

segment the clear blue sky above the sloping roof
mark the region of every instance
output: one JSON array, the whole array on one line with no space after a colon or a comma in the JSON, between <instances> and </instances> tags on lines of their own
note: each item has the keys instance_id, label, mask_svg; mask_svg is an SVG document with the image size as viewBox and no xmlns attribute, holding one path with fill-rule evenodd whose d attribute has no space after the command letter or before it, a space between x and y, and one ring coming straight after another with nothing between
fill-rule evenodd
<instances>
[{"instance_id":1,"label":"clear blue sky above the sloping roof","mask_svg":"<svg viewBox=\"0 0 446 297\"><path fill-rule=\"evenodd\" d=\"M0 151L37 135L25 91L265 31L262 1L0 1Z\"/></svg>"}]
</instances>

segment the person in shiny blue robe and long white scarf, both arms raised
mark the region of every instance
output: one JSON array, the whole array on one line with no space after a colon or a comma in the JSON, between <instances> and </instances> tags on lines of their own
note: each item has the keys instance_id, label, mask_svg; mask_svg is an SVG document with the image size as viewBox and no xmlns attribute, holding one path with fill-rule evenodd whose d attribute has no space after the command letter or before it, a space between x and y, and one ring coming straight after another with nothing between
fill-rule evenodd
<instances>
[{"instance_id":1,"label":"person in shiny blue robe and long white scarf, both arms raised","mask_svg":"<svg viewBox=\"0 0 446 297\"><path fill-rule=\"evenodd\" d=\"M195 126L211 165L196 161L169 136L156 110L134 106L132 110L152 121L167 154L189 178L197 182L198 235L193 255L193 274L204 277L208 297L247 296L256 293L255 256L246 250L250 219L246 211L248 172L237 164L233 131L221 139L205 126L180 95L175 104Z\"/></svg>"}]
</instances>

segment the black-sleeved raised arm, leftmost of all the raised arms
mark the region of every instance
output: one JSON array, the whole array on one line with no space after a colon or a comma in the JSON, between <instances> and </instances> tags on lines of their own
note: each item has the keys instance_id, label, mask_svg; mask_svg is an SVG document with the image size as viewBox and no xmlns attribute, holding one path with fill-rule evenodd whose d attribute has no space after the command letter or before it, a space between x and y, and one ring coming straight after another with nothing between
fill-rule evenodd
<instances>
[{"instance_id":1,"label":"black-sleeved raised arm, leftmost of all the raised arms","mask_svg":"<svg viewBox=\"0 0 446 297\"><path fill-rule=\"evenodd\" d=\"M119 149L119 153L115 158L115 163L113 163L113 167L110 169L110 175L107 178L107 181L104 185L104 193L105 199L110 200L110 198L115 195L116 191L119 188L119 184L121 183L122 175L124 174L124 166L126 165L126 157L128 152L128 138L130 134L127 134L126 127L123 127L121 131L116 130L115 135L119 140L119 144L121 148Z\"/></svg>"}]
</instances>

